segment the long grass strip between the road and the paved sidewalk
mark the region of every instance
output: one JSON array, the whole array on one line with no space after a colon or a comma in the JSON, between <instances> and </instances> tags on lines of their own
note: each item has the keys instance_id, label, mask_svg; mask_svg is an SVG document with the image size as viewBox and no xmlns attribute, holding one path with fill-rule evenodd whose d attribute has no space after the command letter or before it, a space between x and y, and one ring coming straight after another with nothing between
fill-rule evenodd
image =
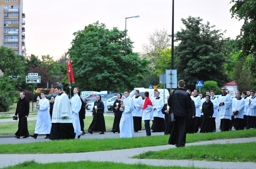
<instances>
[{"instance_id":1,"label":"long grass strip between the road and the paved sidewalk","mask_svg":"<svg viewBox=\"0 0 256 169\"><path fill-rule=\"evenodd\" d=\"M256 130L187 134L186 143L222 138L243 138L255 136ZM167 145L168 139L169 135L157 135L151 137L132 138L55 140L50 142L17 144L16 146L13 146L13 144L6 144L0 145L0 154L51 154L120 150Z\"/></svg>"}]
</instances>

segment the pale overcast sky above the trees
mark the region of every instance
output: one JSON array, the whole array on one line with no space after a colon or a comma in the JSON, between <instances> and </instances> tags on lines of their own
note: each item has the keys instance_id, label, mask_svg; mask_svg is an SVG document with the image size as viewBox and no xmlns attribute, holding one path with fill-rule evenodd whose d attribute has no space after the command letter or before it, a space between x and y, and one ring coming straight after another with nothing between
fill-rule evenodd
<instances>
[{"instance_id":1,"label":"pale overcast sky above the trees","mask_svg":"<svg viewBox=\"0 0 256 169\"><path fill-rule=\"evenodd\" d=\"M227 30L225 37L232 39L240 32L242 21L231 19L230 0L175 0L174 33L184 27L181 18L200 17ZM26 14L25 43L27 55L54 56L56 60L71 47L73 33L88 24L105 23L108 29L125 30L133 42L133 52L142 52L142 44L156 29L165 27L171 33L172 0L24 0Z\"/></svg>"}]
</instances>

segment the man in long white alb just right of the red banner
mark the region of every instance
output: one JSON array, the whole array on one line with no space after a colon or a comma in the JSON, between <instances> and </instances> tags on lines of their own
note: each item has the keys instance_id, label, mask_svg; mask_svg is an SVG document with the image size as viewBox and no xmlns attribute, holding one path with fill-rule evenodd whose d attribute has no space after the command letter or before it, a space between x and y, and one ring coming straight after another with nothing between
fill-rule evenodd
<instances>
[{"instance_id":1,"label":"man in long white alb just right of the red banner","mask_svg":"<svg viewBox=\"0 0 256 169\"><path fill-rule=\"evenodd\" d=\"M75 131L75 136L77 136L77 138L80 138L81 126L80 126L80 120L79 120L79 111L81 109L82 102L78 95L78 92L79 92L79 88L74 87L73 89L74 96L71 98L71 110L72 110L73 127Z\"/></svg>"}]
</instances>

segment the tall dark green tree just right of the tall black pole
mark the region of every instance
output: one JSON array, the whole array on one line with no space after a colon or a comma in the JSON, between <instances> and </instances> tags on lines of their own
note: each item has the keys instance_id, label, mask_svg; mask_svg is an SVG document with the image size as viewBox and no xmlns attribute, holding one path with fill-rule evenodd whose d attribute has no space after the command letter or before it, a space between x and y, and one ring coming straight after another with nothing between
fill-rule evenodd
<instances>
[{"instance_id":1,"label":"tall dark green tree just right of the tall black pole","mask_svg":"<svg viewBox=\"0 0 256 169\"><path fill-rule=\"evenodd\" d=\"M214 80L219 85L229 81L225 63L225 42L220 30L212 30L210 22L201 23L200 17L181 19L186 26L175 34L179 45L175 48L175 64L178 79L183 79L188 88L194 88L197 80Z\"/></svg>"}]
</instances>

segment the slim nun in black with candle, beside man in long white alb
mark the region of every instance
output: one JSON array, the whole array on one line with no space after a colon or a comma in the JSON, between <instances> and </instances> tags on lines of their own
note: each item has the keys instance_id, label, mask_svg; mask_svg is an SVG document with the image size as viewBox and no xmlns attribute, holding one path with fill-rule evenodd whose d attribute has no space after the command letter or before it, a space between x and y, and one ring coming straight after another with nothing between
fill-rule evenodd
<instances>
[{"instance_id":1,"label":"slim nun in black with candle, beside man in long white alb","mask_svg":"<svg viewBox=\"0 0 256 169\"><path fill-rule=\"evenodd\" d=\"M121 119L122 114L123 114L123 111L120 111L122 94L118 93L116 95L116 97L117 97L117 99L113 104L115 118L114 118L114 123L113 123L113 127L112 127L111 132L120 133L119 124L120 124L120 119Z\"/></svg>"}]
</instances>

